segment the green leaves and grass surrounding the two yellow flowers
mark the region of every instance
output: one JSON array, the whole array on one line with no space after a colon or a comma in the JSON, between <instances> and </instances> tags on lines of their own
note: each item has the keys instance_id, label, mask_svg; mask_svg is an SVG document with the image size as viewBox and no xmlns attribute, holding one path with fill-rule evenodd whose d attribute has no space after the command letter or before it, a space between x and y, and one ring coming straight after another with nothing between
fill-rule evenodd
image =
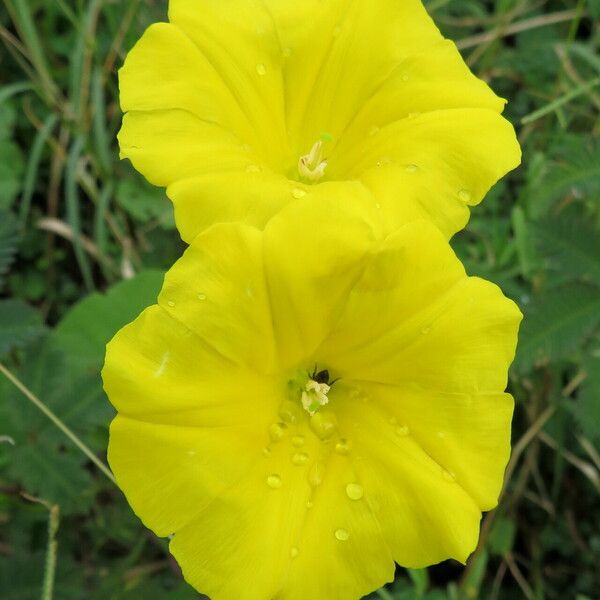
<instances>
[{"instance_id":1,"label":"green leaves and grass surrounding the two yellow flowers","mask_svg":"<svg viewBox=\"0 0 600 600\"><path fill-rule=\"evenodd\" d=\"M524 147L523 166L453 241L470 273L525 312L514 452L467 567L399 569L373 598L597 599L600 0L427 4L510 99ZM183 250L163 191L119 162L115 144L116 69L165 9L0 2L0 362L101 460L104 344L153 302ZM53 581L61 600L198 598L166 543L0 374L0 598L47 600Z\"/></svg>"}]
</instances>

